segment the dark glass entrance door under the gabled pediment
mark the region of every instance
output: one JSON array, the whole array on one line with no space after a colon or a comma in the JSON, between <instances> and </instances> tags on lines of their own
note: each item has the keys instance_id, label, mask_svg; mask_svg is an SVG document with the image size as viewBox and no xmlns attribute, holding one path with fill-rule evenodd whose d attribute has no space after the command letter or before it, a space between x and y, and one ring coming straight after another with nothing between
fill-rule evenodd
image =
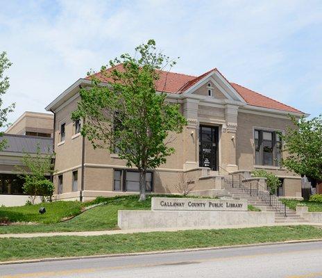
<instances>
[{"instance_id":1,"label":"dark glass entrance door under the gabled pediment","mask_svg":"<svg viewBox=\"0 0 322 278\"><path fill-rule=\"evenodd\" d=\"M200 126L199 166L218 170L218 127Z\"/></svg>"}]
</instances>

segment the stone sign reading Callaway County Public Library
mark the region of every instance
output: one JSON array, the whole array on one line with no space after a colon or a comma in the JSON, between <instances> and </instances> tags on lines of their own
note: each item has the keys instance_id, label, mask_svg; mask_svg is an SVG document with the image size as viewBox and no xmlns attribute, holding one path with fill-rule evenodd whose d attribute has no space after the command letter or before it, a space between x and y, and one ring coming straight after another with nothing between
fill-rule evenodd
<instances>
[{"instance_id":1,"label":"stone sign reading Callaway County Public Library","mask_svg":"<svg viewBox=\"0 0 322 278\"><path fill-rule=\"evenodd\" d=\"M153 197L152 211L247 211L247 200Z\"/></svg>"}]
</instances>

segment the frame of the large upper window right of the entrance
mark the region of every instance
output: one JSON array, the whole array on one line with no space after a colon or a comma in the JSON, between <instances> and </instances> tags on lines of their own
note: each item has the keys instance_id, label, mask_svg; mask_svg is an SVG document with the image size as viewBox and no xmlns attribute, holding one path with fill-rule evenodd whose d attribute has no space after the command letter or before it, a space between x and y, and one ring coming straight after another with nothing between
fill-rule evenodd
<instances>
[{"instance_id":1,"label":"frame of the large upper window right of the entrance","mask_svg":"<svg viewBox=\"0 0 322 278\"><path fill-rule=\"evenodd\" d=\"M258 139L255 138L255 132L258 132ZM265 164L264 163L264 146L263 142L264 141L269 141L269 140L264 140L263 133L271 133L271 142L272 142L272 164ZM280 161L278 159L282 158L282 145L283 141L281 138L280 140L277 140L276 137L278 133L284 133L282 130L278 129L265 129L261 127L254 127L253 128L253 140L254 140L254 165L255 166L267 166L267 167L279 167L280 166ZM258 140L258 145L259 145L259 153L260 153L260 161L258 162L256 159L256 140ZM280 156L278 158L278 144L280 144Z\"/></svg>"}]
</instances>

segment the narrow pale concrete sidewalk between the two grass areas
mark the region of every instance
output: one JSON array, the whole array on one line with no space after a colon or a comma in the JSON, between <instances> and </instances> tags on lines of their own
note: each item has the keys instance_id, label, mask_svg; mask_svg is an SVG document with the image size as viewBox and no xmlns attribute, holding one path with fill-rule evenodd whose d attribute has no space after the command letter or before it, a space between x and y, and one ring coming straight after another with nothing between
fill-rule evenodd
<instances>
[{"instance_id":1,"label":"narrow pale concrete sidewalk between the two grass areas","mask_svg":"<svg viewBox=\"0 0 322 278\"><path fill-rule=\"evenodd\" d=\"M241 229L254 227L276 227L276 226L297 226L310 225L322 227L322 223L275 223L275 224L258 224L258 225L238 225L238 226L208 226L208 227L187 227L187 228L165 228L165 229L133 229L133 230L108 230L108 231L66 231L53 233L35 233L35 234L0 234L0 238L39 238L45 236L105 236L115 234L134 234L134 233L151 233L153 231L187 231L187 230L209 230L209 229Z\"/></svg>"}]
</instances>

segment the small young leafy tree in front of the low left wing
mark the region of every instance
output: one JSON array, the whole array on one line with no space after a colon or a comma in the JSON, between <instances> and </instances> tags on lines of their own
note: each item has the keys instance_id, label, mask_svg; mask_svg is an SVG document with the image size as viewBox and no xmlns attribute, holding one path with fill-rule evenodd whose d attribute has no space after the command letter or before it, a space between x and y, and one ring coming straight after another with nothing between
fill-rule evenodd
<instances>
[{"instance_id":1,"label":"small young leafy tree in front of the low left wing","mask_svg":"<svg viewBox=\"0 0 322 278\"><path fill-rule=\"evenodd\" d=\"M37 144L36 154L25 153L22 158L24 167L17 167L24 179L24 193L31 195L32 204L37 196L42 196L45 201L53 195L55 186L46 178L54 172L53 157L54 154L49 149L46 154L42 154L41 147Z\"/></svg>"}]
</instances>

